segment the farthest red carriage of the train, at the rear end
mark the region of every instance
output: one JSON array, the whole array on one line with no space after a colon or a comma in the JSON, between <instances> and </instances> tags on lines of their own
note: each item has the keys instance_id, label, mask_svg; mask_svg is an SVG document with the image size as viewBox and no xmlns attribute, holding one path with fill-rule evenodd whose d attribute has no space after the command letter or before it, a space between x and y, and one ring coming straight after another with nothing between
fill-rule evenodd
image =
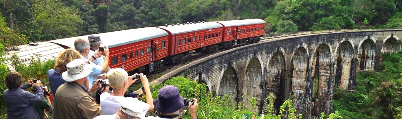
<instances>
[{"instance_id":1,"label":"farthest red carriage of the train, at the rear end","mask_svg":"<svg viewBox=\"0 0 402 119\"><path fill-rule=\"evenodd\" d=\"M228 42L230 44L230 41L236 44L238 40L258 42L258 37L263 36L265 33L265 21L262 19L217 21L216 23L224 26L222 42L226 44Z\"/></svg>"}]
</instances>

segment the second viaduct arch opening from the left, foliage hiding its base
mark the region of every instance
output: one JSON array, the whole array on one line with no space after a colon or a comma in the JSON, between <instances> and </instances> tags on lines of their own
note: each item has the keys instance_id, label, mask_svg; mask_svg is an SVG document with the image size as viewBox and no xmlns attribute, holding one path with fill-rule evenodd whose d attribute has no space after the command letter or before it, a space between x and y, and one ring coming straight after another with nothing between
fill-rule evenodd
<instances>
[{"instance_id":1,"label":"second viaduct arch opening from the left, foliage hiding its base","mask_svg":"<svg viewBox=\"0 0 402 119\"><path fill-rule=\"evenodd\" d=\"M225 94L233 96L233 101L236 102L238 78L236 71L232 67L228 67L219 83L218 95L224 96Z\"/></svg>"}]
</instances>

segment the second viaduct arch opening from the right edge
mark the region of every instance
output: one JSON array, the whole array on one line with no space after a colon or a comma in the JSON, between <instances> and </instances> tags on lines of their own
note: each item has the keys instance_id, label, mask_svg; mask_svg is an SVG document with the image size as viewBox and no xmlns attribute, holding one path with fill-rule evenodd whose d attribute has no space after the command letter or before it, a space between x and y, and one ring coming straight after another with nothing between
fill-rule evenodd
<instances>
[{"instance_id":1,"label":"second viaduct arch opening from the right edge","mask_svg":"<svg viewBox=\"0 0 402 119\"><path fill-rule=\"evenodd\" d=\"M359 44L357 50L357 70L373 70L377 51L375 39L365 37Z\"/></svg>"}]
</instances>

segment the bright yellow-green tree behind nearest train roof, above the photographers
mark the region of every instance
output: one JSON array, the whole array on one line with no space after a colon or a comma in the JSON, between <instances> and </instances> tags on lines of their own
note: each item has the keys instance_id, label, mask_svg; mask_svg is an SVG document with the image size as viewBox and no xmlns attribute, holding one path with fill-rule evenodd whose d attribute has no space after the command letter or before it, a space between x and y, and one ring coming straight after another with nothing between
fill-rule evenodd
<instances>
[{"instance_id":1,"label":"bright yellow-green tree behind nearest train roof, above the photographers","mask_svg":"<svg viewBox=\"0 0 402 119\"><path fill-rule=\"evenodd\" d=\"M82 25L80 12L65 7L59 0L36 0L32 5L35 11L35 22L39 24L46 37L40 40L60 39L78 35Z\"/></svg>"}]
</instances>

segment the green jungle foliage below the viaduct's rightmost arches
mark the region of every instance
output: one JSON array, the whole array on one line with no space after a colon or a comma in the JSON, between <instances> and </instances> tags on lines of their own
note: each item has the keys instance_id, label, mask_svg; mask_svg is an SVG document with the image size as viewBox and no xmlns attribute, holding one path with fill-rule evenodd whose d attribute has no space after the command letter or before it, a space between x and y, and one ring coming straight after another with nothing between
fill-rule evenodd
<instances>
[{"instance_id":1,"label":"green jungle foliage below the viaduct's rightmost arches","mask_svg":"<svg viewBox=\"0 0 402 119\"><path fill-rule=\"evenodd\" d=\"M354 92L334 92L334 110L345 119L402 119L402 52L383 57L380 72L357 75Z\"/></svg>"}]
</instances>

